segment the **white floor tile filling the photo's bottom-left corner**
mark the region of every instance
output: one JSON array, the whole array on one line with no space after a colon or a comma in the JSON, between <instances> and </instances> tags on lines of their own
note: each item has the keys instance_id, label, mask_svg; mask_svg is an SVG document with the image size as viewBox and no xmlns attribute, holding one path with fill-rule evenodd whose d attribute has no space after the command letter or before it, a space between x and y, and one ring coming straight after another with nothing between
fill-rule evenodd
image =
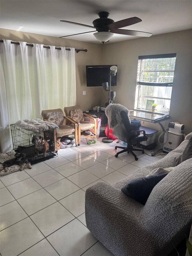
<instances>
[{"instance_id":1,"label":"white floor tile filling the photo's bottom-left corner","mask_svg":"<svg viewBox=\"0 0 192 256\"><path fill-rule=\"evenodd\" d=\"M1 255L16 256L44 238L28 217L1 231Z\"/></svg>"}]
</instances>

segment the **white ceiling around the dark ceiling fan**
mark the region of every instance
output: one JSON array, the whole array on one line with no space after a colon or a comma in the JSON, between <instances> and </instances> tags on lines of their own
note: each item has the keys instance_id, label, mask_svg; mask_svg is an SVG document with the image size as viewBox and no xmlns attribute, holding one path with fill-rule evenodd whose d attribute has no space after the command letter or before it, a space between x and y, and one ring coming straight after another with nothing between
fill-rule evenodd
<instances>
[{"instance_id":1,"label":"white ceiling around the dark ceiling fan","mask_svg":"<svg viewBox=\"0 0 192 256\"><path fill-rule=\"evenodd\" d=\"M108 11L115 22L136 16L142 22L123 29L153 35L192 28L191 0L1 0L0 8L1 28L54 37L93 31L60 20L93 26L92 21L99 18L100 11ZM67 38L101 44L93 33ZM136 37L114 34L109 43L133 38Z\"/></svg>"}]
</instances>

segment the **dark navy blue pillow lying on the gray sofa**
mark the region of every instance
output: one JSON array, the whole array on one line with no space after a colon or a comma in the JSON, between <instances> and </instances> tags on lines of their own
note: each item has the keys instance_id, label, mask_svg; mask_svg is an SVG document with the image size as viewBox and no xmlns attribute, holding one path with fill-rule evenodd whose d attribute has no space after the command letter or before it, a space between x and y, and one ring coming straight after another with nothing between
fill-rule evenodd
<instances>
[{"instance_id":1,"label":"dark navy blue pillow lying on the gray sofa","mask_svg":"<svg viewBox=\"0 0 192 256\"><path fill-rule=\"evenodd\" d=\"M128 197L131 197L132 199L135 199L145 205L152 189L167 174L168 173L154 174L147 177L133 179L122 188L122 192Z\"/></svg>"}]
</instances>

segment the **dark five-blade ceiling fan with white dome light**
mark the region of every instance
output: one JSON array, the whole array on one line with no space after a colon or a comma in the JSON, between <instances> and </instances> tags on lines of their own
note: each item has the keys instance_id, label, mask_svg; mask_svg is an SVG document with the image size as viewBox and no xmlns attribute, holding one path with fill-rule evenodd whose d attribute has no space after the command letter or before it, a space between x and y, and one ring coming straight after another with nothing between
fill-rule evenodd
<instances>
[{"instance_id":1,"label":"dark five-blade ceiling fan with white dome light","mask_svg":"<svg viewBox=\"0 0 192 256\"><path fill-rule=\"evenodd\" d=\"M132 18L128 18L125 20L119 20L119 21L114 22L114 20L108 18L109 13L106 11L99 12L98 15L99 15L99 18L93 21L93 26L76 23L76 22L72 22L72 21L67 21L67 20L60 20L60 21L96 29L97 32L94 33L93 35L95 36L95 38L97 40L99 40L103 44L105 42L108 42L110 40L110 38L112 38L113 33L122 34L122 35L141 36L141 37L149 37L152 35L152 33L148 33L148 32L141 32L141 31L128 30L128 29L119 29L119 28L127 27L130 25L136 24L138 22L141 22L142 20L140 18L132 17ZM90 33L90 32L95 32L95 30L89 31L89 32L84 32L84 33L73 34L73 35L80 35L80 34L85 34L85 33ZM72 36L72 35L61 36L60 38L67 37L67 36Z\"/></svg>"}]
</instances>

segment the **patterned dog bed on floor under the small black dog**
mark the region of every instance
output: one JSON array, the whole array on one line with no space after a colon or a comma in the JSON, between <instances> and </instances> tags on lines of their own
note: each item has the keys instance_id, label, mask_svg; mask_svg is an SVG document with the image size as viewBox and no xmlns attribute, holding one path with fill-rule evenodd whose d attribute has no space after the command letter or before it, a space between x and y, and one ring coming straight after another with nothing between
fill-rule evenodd
<instances>
[{"instance_id":1,"label":"patterned dog bed on floor under the small black dog","mask_svg":"<svg viewBox=\"0 0 192 256\"><path fill-rule=\"evenodd\" d=\"M20 170L20 167L17 164L14 164L14 165L8 167L7 168L8 169L7 172L5 172L5 170L3 169L4 161L7 161L7 160L9 160L11 158L14 158L14 156L15 156L15 151L10 151L8 153L1 153L0 154L0 176L7 175L9 173L13 173L13 172L16 172L16 171ZM24 166L24 168L27 168L27 165Z\"/></svg>"}]
</instances>

